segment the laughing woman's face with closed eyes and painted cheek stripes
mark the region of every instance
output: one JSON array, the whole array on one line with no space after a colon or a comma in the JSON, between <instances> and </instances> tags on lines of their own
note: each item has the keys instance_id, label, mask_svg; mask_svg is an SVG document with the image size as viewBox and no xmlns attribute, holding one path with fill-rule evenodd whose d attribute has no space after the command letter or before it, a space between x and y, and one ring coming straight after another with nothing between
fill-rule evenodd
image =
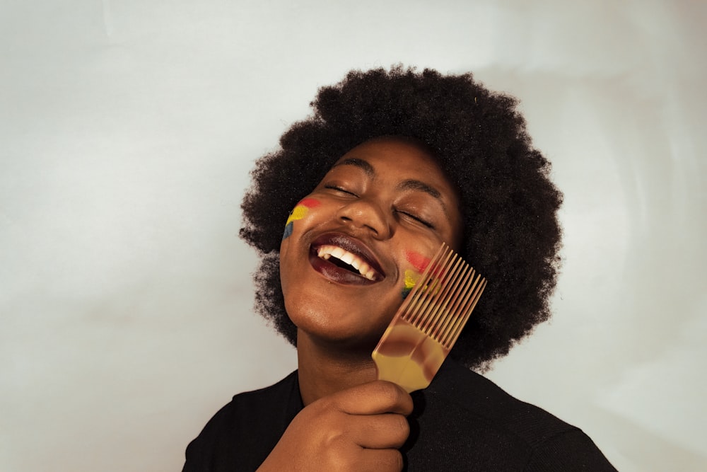
<instances>
[{"instance_id":1,"label":"laughing woman's face with closed eyes and painted cheek stripes","mask_svg":"<svg viewBox=\"0 0 707 472\"><path fill-rule=\"evenodd\" d=\"M455 189L401 139L347 152L293 209L280 278L298 336L368 351L444 241L462 232Z\"/></svg>"}]
</instances>

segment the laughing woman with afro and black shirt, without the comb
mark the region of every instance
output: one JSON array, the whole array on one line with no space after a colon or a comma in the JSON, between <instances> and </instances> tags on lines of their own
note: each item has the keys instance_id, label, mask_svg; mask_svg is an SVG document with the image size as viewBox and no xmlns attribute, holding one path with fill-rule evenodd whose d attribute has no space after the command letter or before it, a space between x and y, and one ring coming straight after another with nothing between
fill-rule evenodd
<instances>
[{"instance_id":1,"label":"laughing woman with afro and black shirt, without the comb","mask_svg":"<svg viewBox=\"0 0 707 472\"><path fill-rule=\"evenodd\" d=\"M184 470L614 470L581 430L470 370L549 317L559 263L561 194L515 100L395 67L352 71L312 105L258 161L241 230L262 256L256 308L298 370L235 396ZM442 242L489 284L408 395L375 380L370 353Z\"/></svg>"}]
</instances>

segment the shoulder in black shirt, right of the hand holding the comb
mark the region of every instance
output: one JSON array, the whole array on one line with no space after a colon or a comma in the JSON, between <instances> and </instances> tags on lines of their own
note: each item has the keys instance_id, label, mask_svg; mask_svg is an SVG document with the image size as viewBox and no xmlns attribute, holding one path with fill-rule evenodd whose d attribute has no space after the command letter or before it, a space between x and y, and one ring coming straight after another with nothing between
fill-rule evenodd
<instances>
[{"instance_id":1,"label":"shoulder in black shirt, right of the hand holding the comb","mask_svg":"<svg viewBox=\"0 0 707 472\"><path fill-rule=\"evenodd\" d=\"M428 449L426 454L443 448L486 471L583 470L580 464L602 461L608 468L585 470L614 470L578 427L450 360L425 391L414 395L419 435L413 455L415 448Z\"/></svg>"}]
</instances>

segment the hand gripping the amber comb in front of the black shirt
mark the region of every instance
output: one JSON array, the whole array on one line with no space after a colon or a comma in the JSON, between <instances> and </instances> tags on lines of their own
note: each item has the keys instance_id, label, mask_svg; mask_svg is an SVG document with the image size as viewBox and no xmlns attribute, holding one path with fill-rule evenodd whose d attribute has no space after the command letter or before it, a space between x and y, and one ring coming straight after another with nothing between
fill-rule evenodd
<instances>
[{"instance_id":1,"label":"hand gripping the amber comb in front of the black shirt","mask_svg":"<svg viewBox=\"0 0 707 472\"><path fill-rule=\"evenodd\" d=\"M412 398L373 381L311 403L292 420L258 471L400 471Z\"/></svg>"}]
</instances>

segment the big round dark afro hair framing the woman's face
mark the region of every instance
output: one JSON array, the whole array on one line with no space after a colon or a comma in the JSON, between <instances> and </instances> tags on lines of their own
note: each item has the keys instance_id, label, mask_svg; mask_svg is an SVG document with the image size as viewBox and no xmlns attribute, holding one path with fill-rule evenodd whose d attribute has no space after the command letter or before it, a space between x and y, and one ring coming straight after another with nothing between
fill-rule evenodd
<instances>
[{"instance_id":1,"label":"big round dark afro hair framing the woman's face","mask_svg":"<svg viewBox=\"0 0 707 472\"><path fill-rule=\"evenodd\" d=\"M433 152L459 192L460 254L488 280L450 355L480 370L506 355L550 316L561 236L556 213L562 195L517 104L472 74L402 66L351 71L339 84L320 88L314 113L257 160L243 199L240 236L261 256L256 310L296 343L279 281L284 221L347 151L375 137L409 137Z\"/></svg>"}]
</instances>

